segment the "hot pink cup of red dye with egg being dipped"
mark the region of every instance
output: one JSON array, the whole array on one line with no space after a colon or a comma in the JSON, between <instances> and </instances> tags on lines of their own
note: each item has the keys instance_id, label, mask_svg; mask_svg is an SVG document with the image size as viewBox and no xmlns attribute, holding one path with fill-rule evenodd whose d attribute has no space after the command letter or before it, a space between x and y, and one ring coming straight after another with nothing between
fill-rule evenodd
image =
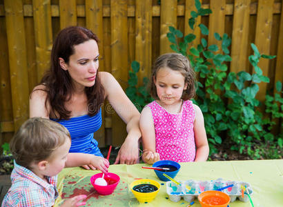
<instances>
[{"instance_id":1,"label":"hot pink cup of red dye with egg being dipped","mask_svg":"<svg viewBox=\"0 0 283 207\"><path fill-rule=\"evenodd\" d=\"M107 174L104 174L104 179L107 182L107 186L98 186L95 184L95 180L99 177L102 177L103 173L97 173L95 175L92 175L90 177L90 182L100 195L110 195L114 192L115 188L119 184L120 177L116 175L115 173L108 172Z\"/></svg>"}]
</instances>

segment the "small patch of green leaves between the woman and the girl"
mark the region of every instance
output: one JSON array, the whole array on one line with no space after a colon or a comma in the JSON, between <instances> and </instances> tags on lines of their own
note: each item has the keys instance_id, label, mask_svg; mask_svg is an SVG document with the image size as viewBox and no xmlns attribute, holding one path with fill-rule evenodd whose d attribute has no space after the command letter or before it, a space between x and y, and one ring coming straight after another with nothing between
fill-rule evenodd
<instances>
[{"instance_id":1,"label":"small patch of green leaves between the woman and the girl","mask_svg":"<svg viewBox=\"0 0 283 207\"><path fill-rule=\"evenodd\" d=\"M133 70L128 72L129 79L126 95L135 104L137 110L141 112L147 103L153 101L147 90L149 80L148 77L144 77L142 86L138 86L137 72L139 72L139 62L133 61L131 67Z\"/></svg>"}]
</instances>

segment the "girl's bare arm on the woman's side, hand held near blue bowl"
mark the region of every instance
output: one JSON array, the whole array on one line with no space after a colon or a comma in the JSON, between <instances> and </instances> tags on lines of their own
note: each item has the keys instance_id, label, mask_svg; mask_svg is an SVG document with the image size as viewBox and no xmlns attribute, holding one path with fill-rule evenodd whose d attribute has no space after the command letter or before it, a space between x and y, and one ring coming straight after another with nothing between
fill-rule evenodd
<instances>
[{"instance_id":1,"label":"girl's bare arm on the woman's side, hand held near blue bowl","mask_svg":"<svg viewBox=\"0 0 283 207\"><path fill-rule=\"evenodd\" d=\"M142 147L144 149L142 159L148 164L153 164L155 161L159 161L159 153L155 148L155 126L149 107L142 110L139 128L142 131Z\"/></svg>"}]
</instances>

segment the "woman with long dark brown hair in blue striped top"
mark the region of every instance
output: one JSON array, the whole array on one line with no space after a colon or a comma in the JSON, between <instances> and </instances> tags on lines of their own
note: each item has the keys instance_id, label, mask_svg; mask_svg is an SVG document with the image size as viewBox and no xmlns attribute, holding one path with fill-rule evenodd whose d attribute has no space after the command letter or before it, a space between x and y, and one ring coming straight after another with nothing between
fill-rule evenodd
<instances>
[{"instance_id":1,"label":"woman with long dark brown hair in blue striped top","mask_svg":"<svg viewBox=\"0 0 283 207\"><path fill-rule=\"evenodd\" d=\"M115 164L135 164L141 137L139 112L113 75L98 72L97 42L97 36L86 28L70 26L59 32L50 70L30 95L30 117L53 119L66 126L72 137L70 152L103 156L93 132L101 126L101 105L108 99L128 132Z\"/></svg>"}]
</instances>

